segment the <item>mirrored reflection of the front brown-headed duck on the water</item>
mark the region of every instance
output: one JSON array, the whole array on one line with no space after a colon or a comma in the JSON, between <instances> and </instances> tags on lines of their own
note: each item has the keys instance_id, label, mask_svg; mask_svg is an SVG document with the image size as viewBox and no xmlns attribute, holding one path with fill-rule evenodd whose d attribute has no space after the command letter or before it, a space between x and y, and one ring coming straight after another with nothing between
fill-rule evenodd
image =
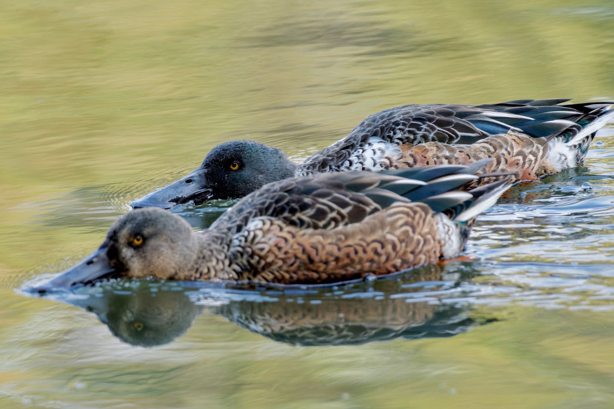
<instances>
[{"instance_id":1,"label":"mirrored reflection of the front brown-headed duck on the water","mask_svg":"<svg viewBox=\"0 0 614 409\"><path fill-rule=\"evenodd\" d=\"M446 337L476 323L468 316L467 303L441 303L437 298L461 296L457 285L475 273L470 266L426 266L371 283L317 289L119 281L83 289L64 301L95 313L113 335L141 346L173 341L206 310L249 331L297 345Z\"/></svg>"}]
</instances>

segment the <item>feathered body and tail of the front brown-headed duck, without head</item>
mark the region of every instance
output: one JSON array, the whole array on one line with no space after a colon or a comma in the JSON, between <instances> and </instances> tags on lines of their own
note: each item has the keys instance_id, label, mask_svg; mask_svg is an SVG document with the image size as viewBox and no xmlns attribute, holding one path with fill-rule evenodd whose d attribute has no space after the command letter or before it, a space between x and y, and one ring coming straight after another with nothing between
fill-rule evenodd
<instances>
[{"instance_id":1,"label":"feathered body and tail of the front brown-headed duck, without head","mask_svg":"<svg viewBox=\"0 0 614 409\"><path fill-rule=\"evenodd\" d=\"M228 237L230 269L219 278L329 283L433 263L462 250L465 222L505 183L473 194L458 191L477 178L468 167L397 172L290 178L249 194L210 227Z\"/></svg>"}]
</instances>

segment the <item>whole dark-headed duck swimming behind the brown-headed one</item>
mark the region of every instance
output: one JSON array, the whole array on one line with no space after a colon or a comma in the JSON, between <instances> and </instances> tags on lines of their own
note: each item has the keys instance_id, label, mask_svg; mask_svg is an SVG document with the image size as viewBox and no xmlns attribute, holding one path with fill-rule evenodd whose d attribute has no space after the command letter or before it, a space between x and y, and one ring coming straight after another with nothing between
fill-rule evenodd
<instances>
[{"instance_id":1,"label":"whole dark-headed duck swimming behind the brown-headed one","mask_svg":"<svg viewBox=\"0 0 614 409\"><path fill-rule=\"evenodd\" d=\"M494 159L484 172L535 181L578 166L596 131L614 117L613 102L523 99L486 105L403 105L370 115L348 136L302 162L253 140L209 151L201 166L131 203L161 207L239 199L266 183L344 170L379 172Z\"/></svg>"}]
</instances>

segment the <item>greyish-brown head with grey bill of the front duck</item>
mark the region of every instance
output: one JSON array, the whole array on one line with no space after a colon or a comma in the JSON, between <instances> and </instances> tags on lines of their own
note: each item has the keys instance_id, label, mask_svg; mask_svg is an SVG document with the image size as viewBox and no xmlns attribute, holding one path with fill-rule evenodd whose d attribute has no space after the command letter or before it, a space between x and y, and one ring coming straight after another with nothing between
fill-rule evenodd
<instances>
[{"instance_id":1,"label":"greyish-brown head with grey bill of the front duck","mask_svg":"<svg viewBox=\"0 0 614 409\"><path fill-rule=\"evenodd\" d=\"M181 217L160 208L134 210L115 221L98 250L29 291L69 289L105 278L183 278L193 270L199 248L196 234Z\"/></svg>"}]
</instances>

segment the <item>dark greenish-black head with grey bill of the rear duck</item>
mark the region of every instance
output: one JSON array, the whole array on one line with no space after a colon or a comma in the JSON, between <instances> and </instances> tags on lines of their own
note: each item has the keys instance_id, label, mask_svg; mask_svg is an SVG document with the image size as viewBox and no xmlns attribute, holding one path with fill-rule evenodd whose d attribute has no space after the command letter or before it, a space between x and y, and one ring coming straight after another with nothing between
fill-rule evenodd
<instances>
[{"instance_id":1,"label":"dark greenish-black head with grey bill of the rear duck","mask_svg":"<svg viewBox=\"0 0 614 409\"><path fill-rule=\"evenodd\" d=\"M292 177L296 164L278 148L254 140L231 140L214 147L190 174L130 205L171 208L214 199L237 199L266 183Z\"/></svg>"}]
</instances>

